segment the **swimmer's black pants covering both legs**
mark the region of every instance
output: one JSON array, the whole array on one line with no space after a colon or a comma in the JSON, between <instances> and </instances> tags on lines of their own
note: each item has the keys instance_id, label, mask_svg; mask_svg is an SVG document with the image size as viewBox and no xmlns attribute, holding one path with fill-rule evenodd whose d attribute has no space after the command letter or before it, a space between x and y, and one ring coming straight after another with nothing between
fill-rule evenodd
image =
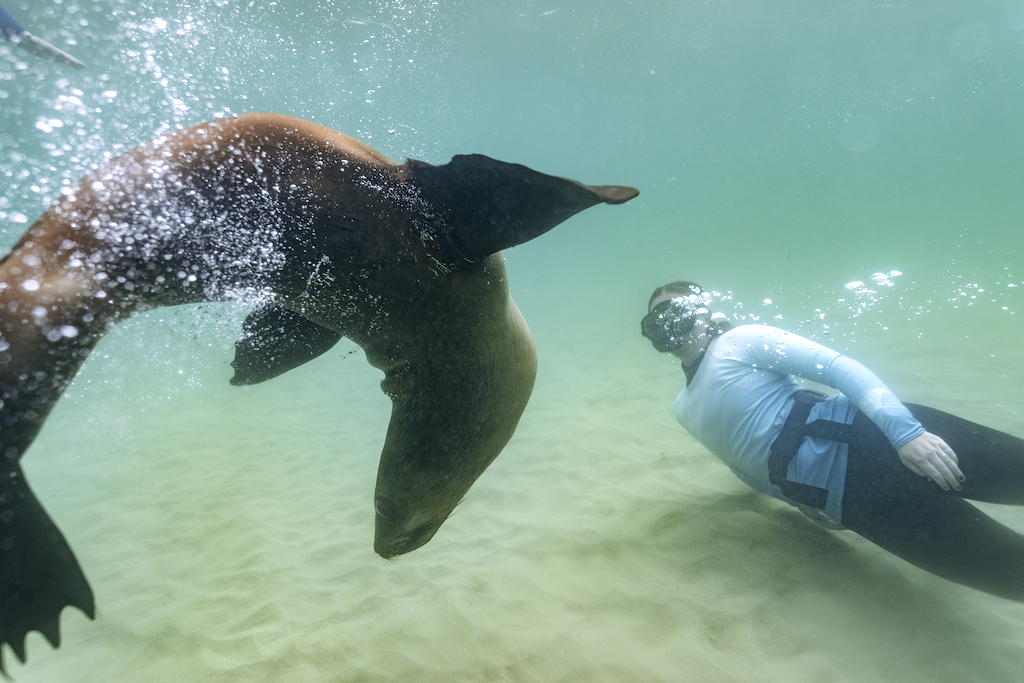
<instances>
[{"instance_id":1,"label":"swimmer's black pants covering both legs","mask_svg":"<svg viewBox=\"0 0 1024 683\"><path fill-rule=\"evenodd\" d=\"M965 500L1024 505L1024 439L935 409L905 405L952 447L967 477L964 489L945 492L911 472L858 412L843 525L943 579L1024 601L1024 536Z\"/></svg>"}]
</instances>

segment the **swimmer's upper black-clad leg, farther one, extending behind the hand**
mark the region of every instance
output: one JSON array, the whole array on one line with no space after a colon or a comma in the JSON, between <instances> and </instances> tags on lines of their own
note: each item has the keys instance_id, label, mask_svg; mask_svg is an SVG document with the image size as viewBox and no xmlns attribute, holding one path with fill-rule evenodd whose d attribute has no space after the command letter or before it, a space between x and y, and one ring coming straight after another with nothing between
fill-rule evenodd
<instances>
[{"instance_id":1,"label":"swimmer's upper black-clad leg, farther one, extending behind the hand","mask_svg":"<svg viewBox=\"0 0 1024 683\"><path fill-rule=\"evenodd\" d=\"M905 403L928 431L956 454L967 476L964 498L1024 505L1024 439L927 405Z\"/></svg>"}]
</instances>

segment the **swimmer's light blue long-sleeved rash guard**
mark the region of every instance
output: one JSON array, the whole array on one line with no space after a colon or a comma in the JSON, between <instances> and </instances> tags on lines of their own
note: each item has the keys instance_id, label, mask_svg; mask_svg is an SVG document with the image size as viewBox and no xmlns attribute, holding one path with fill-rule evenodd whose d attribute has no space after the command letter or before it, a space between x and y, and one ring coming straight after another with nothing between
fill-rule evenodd
<instances>
[{"instance_id":1,"label":"swimmer's light blue long-sleeved rash guard","mask_svg":"<svg viewBox=\"0 0 1024 683\"><path fill-rule=\"evenodd\" d=\"M864 366L778 328L744 325L708 347L696 376L676 398L676 419L752 487L797 505L768 481L768 455L793 394L794 375L838 393L811 409L808 422L850 424L860 409L894 449L925 432L910 412ZM806 438L790 463L788 479L828 489L825 514L841 522L846 485L846 443Z\"/></svg>"}]
</instances>

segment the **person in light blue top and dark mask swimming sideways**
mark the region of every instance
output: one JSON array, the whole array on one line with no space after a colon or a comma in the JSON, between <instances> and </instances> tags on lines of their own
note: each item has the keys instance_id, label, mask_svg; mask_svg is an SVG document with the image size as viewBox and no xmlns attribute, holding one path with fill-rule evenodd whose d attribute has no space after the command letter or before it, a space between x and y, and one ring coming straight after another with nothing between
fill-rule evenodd
<instances>
[{"instance_id":1,"label":"person in light blue top and dark mask swimming sideways","mask_svg":"<svg viewBox=\"0 0 1024 683\"><path fill-rule=\"evenodd\" d=\"M699 286L641 323L682 360L676 419L755 489L936 575L1024 601L1024 536L966 499L1024 505L1024 440L901 403L867 368L777 328L733 327ZM803 389L794 376L841 393Z\"/></svg>"}]
</instances>

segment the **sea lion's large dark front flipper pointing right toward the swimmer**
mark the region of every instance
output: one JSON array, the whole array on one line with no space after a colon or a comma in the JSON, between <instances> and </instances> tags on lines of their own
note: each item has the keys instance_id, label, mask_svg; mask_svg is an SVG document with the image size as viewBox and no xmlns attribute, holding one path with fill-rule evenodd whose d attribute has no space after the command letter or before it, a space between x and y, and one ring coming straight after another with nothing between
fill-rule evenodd
<instances>
[{"instance_id":1,"label":"sea lion's large dark front flipper pointing right toward the swimmer","mask_svg":"<svg viewBox=\"0 0 1024 683\"><path fill-rule=\"evenodd\" d=\"M411 159L403 169L439 213L438 237L470 262L528 242L596 204L622 204L640 194L585 185L483 155L459 155L443 166Z\"/></svg>"}]
</instances>

